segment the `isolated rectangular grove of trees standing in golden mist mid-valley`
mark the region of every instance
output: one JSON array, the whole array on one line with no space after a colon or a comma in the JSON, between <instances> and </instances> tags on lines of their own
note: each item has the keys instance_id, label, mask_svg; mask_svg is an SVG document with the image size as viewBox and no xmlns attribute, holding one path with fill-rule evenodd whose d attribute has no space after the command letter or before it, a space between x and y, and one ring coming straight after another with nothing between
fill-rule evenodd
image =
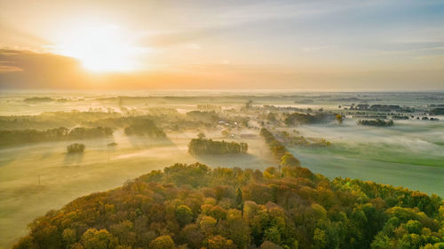
<instances>
[{"instance_id":1,"label":"isolated rectangular grove of trees standing in golden mist mid-valley","mask_svg":"<svg viewBox=\"0 0 444 249\"><path fill-rule=\"evenodd\" d=\"M194 138L188 144L188 152L194 155L244 154L247 151L247 143L213 141L212 139Z\"/></svg>"}]
</instances>

